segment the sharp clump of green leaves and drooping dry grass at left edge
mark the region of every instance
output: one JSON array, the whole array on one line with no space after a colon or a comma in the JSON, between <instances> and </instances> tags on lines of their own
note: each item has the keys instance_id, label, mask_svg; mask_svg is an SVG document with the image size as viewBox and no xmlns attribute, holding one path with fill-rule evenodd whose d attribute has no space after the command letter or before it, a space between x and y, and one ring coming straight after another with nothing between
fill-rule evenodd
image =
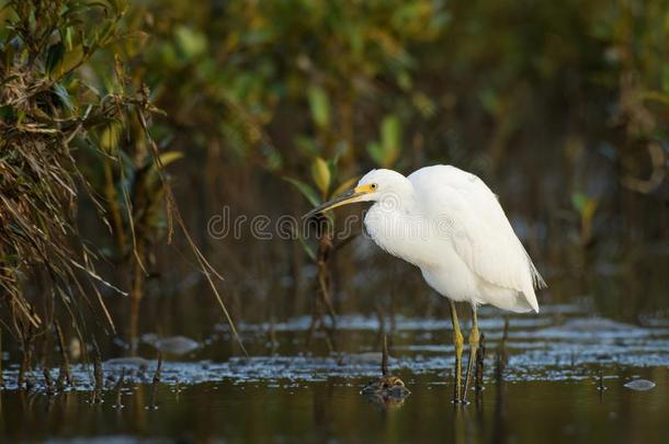
<instances>
[{"instance_id":1,"label":"sharp clump of green leaves and drooping dry grass at left edge","mask_svg":"<svg viewBox=\"0 0 669 444\"><path fill-rule=\"evenodd\" d=\"M103 95L77 73L122 38L125 8L121 0L11 0L0 12L5 23L0 32L0 291L12 300L7 314L16 330L50 326L53 312L38 315L23 294L31 276L48 276L52 295L72 316L79 312L75 292L88 298L89 292L100 296L100 283L115 288L97 273L90 260L95 253L78 236L79 183L104 216L77 168L73 147L97 145L98 132L107 128L103 138L110 148L117 141L114 123L148 110L141 95ZM98 301L97 314L113 329L102 298Z\"/></svg>"}]
</instances>

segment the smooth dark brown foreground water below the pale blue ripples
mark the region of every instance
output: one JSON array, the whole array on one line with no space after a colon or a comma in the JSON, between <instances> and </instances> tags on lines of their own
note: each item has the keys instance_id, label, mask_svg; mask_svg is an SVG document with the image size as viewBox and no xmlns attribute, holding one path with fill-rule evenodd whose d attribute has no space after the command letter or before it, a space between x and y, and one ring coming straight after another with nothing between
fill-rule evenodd
<instances>
[{"instance_id":1,"label":"smooth dark brown foreground water below the pale blue ripples","mask_svg":"<svg viewBox=\"0 0 669 444\"><path fill-rule=\"evenodd\" d=\"M632 374L651 377L656 388L622 386ZM147 409L145 386L127 389L125 408L114 397L91 406L82 392L58 399L5 392L3 436L180 437L194 442L667 442L668 372L616 373L600 394L590 380L529 382L489 386L483 402L450 403L451 387L433 375L410 377L412 395L384 409L359 395L361 378L299 384L220 382L177 392L162 387L158 407Z\"/></svg>"}]
</instances>

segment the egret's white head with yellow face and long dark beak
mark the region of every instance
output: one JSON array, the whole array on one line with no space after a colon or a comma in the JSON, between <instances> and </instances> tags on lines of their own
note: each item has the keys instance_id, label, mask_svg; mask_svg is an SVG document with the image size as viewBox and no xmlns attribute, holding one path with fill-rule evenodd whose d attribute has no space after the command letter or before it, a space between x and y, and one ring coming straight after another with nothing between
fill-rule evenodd
<instances>
[{"instance_id":1,"label":"egret's white head with yellow face and long dark beak","mask_svg":"<svg viewBox=\"0 0 669 444\"><path fill-rule=\"evenodd\" d=\"M372 170L358 182L358 186L311 209L305 217L327 212L341 205L354 202L377 202L386 197L394 201L410 190L407 178L393 170Z\"/></svg>"}]
</instances>

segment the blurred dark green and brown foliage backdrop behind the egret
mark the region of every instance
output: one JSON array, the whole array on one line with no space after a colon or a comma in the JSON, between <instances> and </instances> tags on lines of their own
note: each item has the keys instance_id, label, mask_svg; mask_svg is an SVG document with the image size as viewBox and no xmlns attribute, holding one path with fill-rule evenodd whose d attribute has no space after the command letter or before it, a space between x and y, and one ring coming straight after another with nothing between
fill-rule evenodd
<instances>
[{"instance_id":1,"label":"blurred dark green and brown foliage backdrop behind the egret","mask_svg":"<svg viewBox=\"0 0 669 444\"><path fill-rule=\"evenodd\" d=\"M68 59L78 50L69 39L91 20L45 38L63 42ZM667 254L666 0L135 0L121 26L126 34L65 86L69 100L86 104L77 103L79 79L101 95L146 86L161 110L150 135L185 225L225 274L219 286L238 319L307 311L315 250L309 259L294 240L254 239L248 225L214 239L208 220L224 206L231 220L299 216L372 168L409 173L443 162L479 174L553 284L545 301L571 297L560 276ZM196 332L218 312L201 296L206 280L192 260L158 242L168 220L141 132L117 116L87 138L95 149L72 140L113 236L90 223L91 200L79 225L105 253L105 276L124 288L133 281L117 265L133 263L141 239L134 263L145 267L135 270L149 296L145 329ZM175 244L181 252L186 243ZM441 310L416 273L360 237L331 260L339 312ZM123 318L122 299L105 297Z\"/></svg>"}]
</instances>

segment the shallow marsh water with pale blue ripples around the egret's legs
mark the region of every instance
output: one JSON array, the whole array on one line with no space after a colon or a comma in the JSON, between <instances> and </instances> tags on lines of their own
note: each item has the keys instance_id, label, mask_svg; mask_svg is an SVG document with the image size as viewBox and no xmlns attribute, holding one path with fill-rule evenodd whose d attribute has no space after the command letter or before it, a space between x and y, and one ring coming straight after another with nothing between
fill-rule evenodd
<instances>
[{"instance_id":1,"label":"shallow marsh water with pale blue ripples around the egret's legs","mask_svg":"<svg viewBox=\"0 0 669 444\"><path fill-rule=\"evenodd\" d=\"M592 317L581 305L543 307L541 316L514 316L503 378L496 377L503 318L481 310L487 338L486 388L466 407L451 403L453 353L447 322L398 317L392 372L411 396L397 405L360 395L379 373L379 322L342 317L341 358L301 355L307 318L245 325L245 341L265 356L212 360L229 332L216 329L201 349L163 363L104 365L103 402L90 402L91 371L73 367L76 386L44 394L41 374L32 391L15 390L15 366L4 372L0 431L4 440L103 442L500 442L664 443L669 425L669 322L646 317L636 325ZM388 322L389 323L389 322ZM271 354L268 332L279 342ZM146 356L149 353L145 353ZM122 368L125 368L122 371ZM54 375L57 371L54 371ZM118 384L121 373L124 380ZM655 387L624 385L648 379ZM603 385L603 389L602 386ZM122 407L121 407L122 406Z\"/></svg>"}]
</instances>

